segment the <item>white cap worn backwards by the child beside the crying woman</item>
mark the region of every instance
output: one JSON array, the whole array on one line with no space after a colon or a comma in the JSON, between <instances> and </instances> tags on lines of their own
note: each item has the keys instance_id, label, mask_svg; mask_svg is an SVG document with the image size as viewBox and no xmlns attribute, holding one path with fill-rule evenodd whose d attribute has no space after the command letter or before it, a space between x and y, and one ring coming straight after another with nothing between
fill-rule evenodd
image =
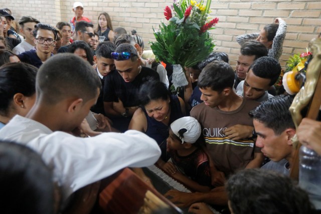
<instances>
[{"instance_id":1,"label":"white cap worn backwards by the child beside the crying woman","mask_svg":"<svg viewBox=\"0 0 321 214\"><path fill-rule=\"evenodd\" d=\"M182 117L171 124L171 129L182 143L195 143L201 136L201 125L194 117Z\"/></svg>"}]
</instances>

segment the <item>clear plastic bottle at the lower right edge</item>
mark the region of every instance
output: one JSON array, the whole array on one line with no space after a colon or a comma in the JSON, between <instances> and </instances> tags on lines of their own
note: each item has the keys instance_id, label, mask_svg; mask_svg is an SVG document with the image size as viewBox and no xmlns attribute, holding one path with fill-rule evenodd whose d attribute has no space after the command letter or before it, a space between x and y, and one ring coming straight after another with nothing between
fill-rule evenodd
<instances>
[{"instance_id":1,"label":"clear plastic bottle at the lower right edge","mask_svg":"<svg viewBox=\"0 0 321 214\"><path fill-rule=\"evenodd\" d=\"M321 209L321 156L301 146L299 158L299 185L308 192L314 207Z\"/></svg>"}]
</instances>

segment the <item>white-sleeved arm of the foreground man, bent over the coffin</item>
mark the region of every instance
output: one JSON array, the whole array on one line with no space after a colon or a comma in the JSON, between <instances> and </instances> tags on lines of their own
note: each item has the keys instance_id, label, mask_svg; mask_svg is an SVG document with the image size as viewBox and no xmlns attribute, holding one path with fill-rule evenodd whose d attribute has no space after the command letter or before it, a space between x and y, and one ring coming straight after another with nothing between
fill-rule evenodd
<instances>
[{"instance_id":1,"label":"white-sleeved arm of the foreground man, bent over the coffin","mask_svg":"<svg viewBox=\"0 0 321 214\"><path fill-rule=\"evenodd\" d=\"M90 138L54 132L28 144L42 154L47 164L55 165L55 174L61 175L65 194L124 167L152 165L161 156L155 140L134 130L102 133Z\"/></svg>"}]
</instances>

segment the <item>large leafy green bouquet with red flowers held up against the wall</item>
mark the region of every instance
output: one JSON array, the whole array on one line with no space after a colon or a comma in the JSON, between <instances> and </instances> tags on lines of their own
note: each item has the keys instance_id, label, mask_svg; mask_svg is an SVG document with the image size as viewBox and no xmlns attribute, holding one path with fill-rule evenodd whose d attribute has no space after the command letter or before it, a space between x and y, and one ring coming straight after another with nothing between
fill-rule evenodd
<instances>
[{"instance_id":1,"label":"large leafy green bouquet with red flowers held up against the wall","mask_svg":"<svg viewBox=\"0 0 321 214\"><path fill-rule=\"evenodd\" d=\"M192 67L213 52L215 44L208 30L214 29L219 19L210 19L211 0L196 2L180 0L173 9L165 8L168 25L161 23L154 31L156 42L151 43L154 55L165 63Z\"/></svg>"}]
</instances>

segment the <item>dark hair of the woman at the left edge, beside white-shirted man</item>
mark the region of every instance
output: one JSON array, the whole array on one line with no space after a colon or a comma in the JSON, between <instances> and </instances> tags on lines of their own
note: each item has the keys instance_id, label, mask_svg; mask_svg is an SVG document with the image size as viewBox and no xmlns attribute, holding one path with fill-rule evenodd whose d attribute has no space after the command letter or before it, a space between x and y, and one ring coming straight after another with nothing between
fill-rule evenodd
<instances>
[{"instance_id":1,"label":"dark hair of the woman at the left edge, beside white-shirted man","mask_svg":"<svg viewBox=\"0 0 321 214\"><path fill-rule=\"evenodd\" d=\"M27 63L10 63L0 67L0 114L7 116L13 97L22 93L31 97L36 93L37 68Z\"/></svg>"}]
</instances>

